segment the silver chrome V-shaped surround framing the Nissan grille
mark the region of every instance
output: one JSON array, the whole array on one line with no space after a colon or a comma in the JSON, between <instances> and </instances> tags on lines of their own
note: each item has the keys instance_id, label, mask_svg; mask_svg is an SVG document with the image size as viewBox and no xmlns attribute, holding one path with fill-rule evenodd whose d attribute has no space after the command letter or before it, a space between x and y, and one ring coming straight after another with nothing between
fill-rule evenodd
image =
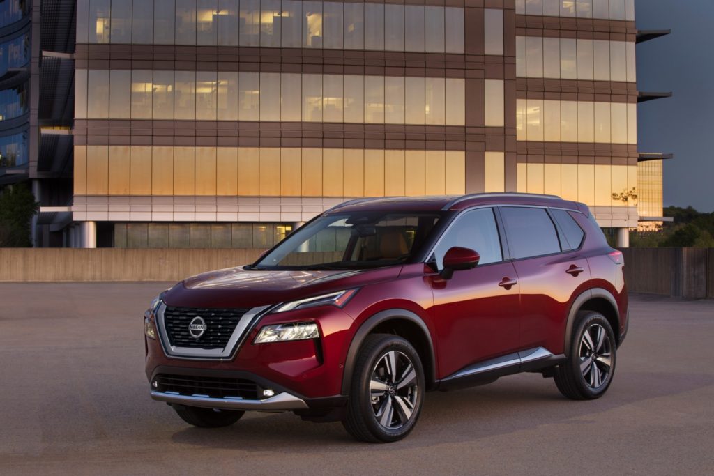
<instances>
[{"instance_id":1,"label":"silver chrome V-shaped surround framing the Nissan grille","mask_svg":"<svg viewBox=\"0 0 714 476\"><path fill-rule=\"evenodd\" d=\"M196 360L230 360L235 355L238 348L241 348L248 336L248 333L255 324L258 323L266 311L271 308L269 305L264 305L258 308L252 308L247 313L241 316L238 320L238 325L233 330L231 338L228 339L226 347L222 349L194 349L189 347L178 347L170 345L169 334L166 333L164 325L164 313L166 312L166 304L161 303L156 310L156 327L159 328L159 342L164 354L169 358L184 358Z\"/></svg>"}]
</instances>

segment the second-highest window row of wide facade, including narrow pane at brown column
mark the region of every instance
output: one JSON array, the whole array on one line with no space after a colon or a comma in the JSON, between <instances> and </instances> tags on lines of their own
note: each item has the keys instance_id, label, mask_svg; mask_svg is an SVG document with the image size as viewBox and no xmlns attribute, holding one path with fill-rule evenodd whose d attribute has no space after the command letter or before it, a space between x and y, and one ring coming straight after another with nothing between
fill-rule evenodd
<instances>
[{"instance_id":1,"label":"second-highest window row of wide facade, including narrow pane at brown column","mask_svg":"<svg viewBox=\"0 0 714 476\"><path fill-rule=\"evenodd\" d=\"M463 79L451 78L79 69L75 114L461 126L464 87ZM486 103L488 125L503 126L503 81L486 80Z\"/></svg>"}]
</instances>

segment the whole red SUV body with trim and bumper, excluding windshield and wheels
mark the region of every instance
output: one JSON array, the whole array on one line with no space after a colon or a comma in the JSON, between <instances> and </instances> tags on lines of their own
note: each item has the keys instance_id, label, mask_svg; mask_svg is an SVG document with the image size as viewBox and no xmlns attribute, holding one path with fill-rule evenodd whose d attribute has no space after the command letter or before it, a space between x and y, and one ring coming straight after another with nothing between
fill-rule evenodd
<instances>
[{"instance_id":1,"label":"whole red SUV body with trim and bumper, excluding windshield and wheels","mask_svg":"<svg viewBox=\"0 0 714 476\"><path fill-rule=\"evenodd\" d=\"M511 236L506 222L516 213L512 221L517 228L517 213L528 209L548 214L561 243L557 252L514 255L526 242ZM553 211L567 213L582 229L577 247L562 245L565 233ZM379 198L351 201L323 216L352 212L433 213L438 221L404 263L365 270L245 266L193 276L166 290L145 316L149 330L158 335L146 338L152 397L176 405L291 410L306 419L333 420L341 418L361 345L373 333L399 335L413 345L427 390L478 385L529 370L548 375L573 352L570 336L578 311L605 316L616 345L625 336L628 301L621 255L607 245L582 203L516 193ZM494 253L500 252L501 259L456 270L447 279L433 263L433 250L459 220L466 220L466 213L493 213L501 248ZM281 303L342 290L356 292L339 306L273 312ZM209 355L205 349L171 347L167 309L188 310L186 319L213 310L244 313L233 340ZM319 337L255 343L261 329L286 323L316 323ZM256 390L247 397L226 397L211 394L210 388L199 391L204 382L198 387L191 383L193 388L183 393L175 386L169 391L162 375L242 379Z\"/></svg>"}]
</instances>

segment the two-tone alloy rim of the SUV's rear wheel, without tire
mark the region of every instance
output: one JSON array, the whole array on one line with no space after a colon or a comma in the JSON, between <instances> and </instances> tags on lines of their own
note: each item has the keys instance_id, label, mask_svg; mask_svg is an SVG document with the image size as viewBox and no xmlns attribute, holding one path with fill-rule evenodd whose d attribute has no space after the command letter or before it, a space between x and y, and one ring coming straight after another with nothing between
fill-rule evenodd
<instances>
[{"instance_id":1,"label":"two-tone alloy rim of the SUV's rear wheel, without tire","mask_svg":"<svg viewBox=\"0 0 714 476\"><path fill-rule=\"evenodd\" d=\"M597 390L610 378L612 368L612 344L605 328L599 324L590 325L580 341L580 373L585 384Z\"/></svg>"}]
</instances>

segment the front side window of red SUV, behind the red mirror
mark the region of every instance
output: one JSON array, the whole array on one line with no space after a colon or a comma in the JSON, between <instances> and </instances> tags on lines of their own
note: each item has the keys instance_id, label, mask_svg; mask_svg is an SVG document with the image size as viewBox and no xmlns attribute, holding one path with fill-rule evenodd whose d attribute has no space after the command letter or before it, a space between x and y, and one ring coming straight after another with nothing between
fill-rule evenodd
<instances>
[{"instance_id":1,"label":"front side window of red SUV, behind the red mirror","mask_svg":"<svg viewBox=\"0 0 714 476\"><path fill-rule=\"evenodd\" d=\"M453 246L476 250L481 255L479 265L503 261L493 209L478 208L467 211L456 219L456 223L446 231L446 235L434 250L438 270L443 269L444 255Z\"/></svg>"}]
</instances>

